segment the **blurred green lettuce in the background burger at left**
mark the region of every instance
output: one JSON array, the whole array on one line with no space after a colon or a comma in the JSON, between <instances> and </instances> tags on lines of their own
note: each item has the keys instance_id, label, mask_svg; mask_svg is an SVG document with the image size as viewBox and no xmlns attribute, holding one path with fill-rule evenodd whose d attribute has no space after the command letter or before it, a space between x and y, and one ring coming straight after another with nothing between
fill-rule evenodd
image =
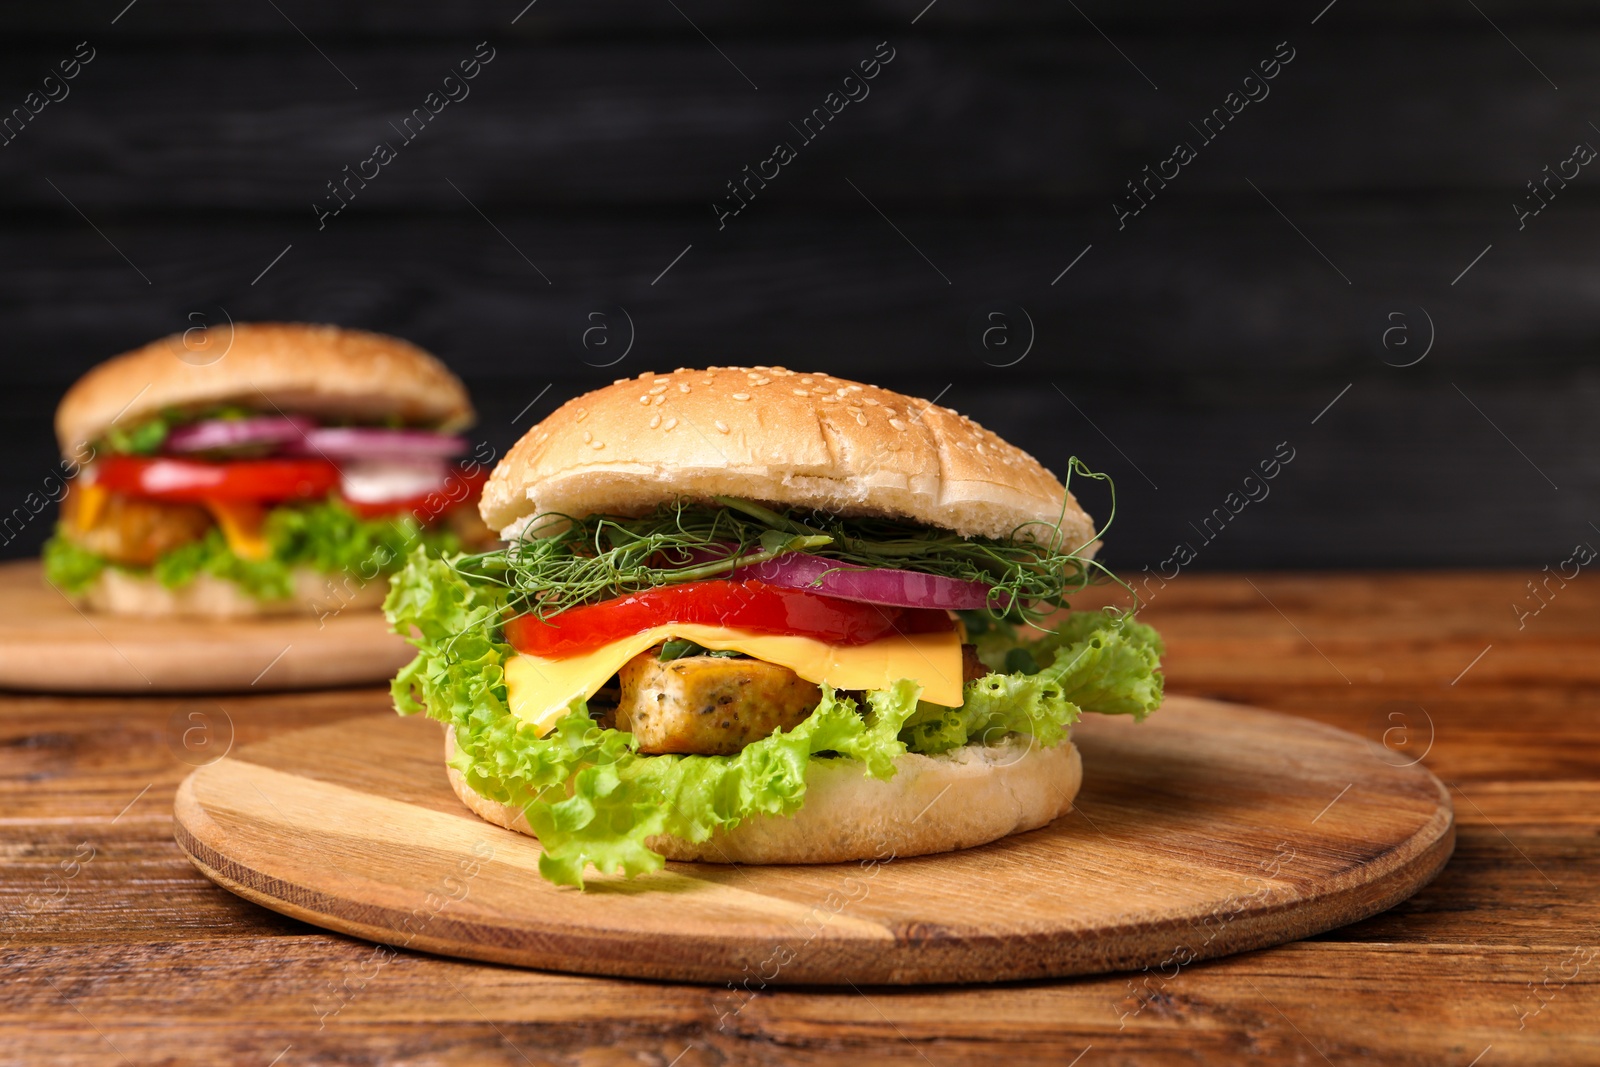
<instances>
[{"instance_id":1,"label":"blurred green lettuce in the background burger at left","mask_svg":"<svg viewBox=\"0 0 1600 1067\"><path fill-rule=\"evenodd\" d=\"M107 566L149 574L166 589L181 589L200 574L234 582L256 600L288 600L294 595L294 569L320 574L357 574L362 579L392 574L413 547L454 552L454 534L426 530L410 515L360 518L334 499L293 504L267 512L261 528L270 547L264 560L246 560L227 547L222 531L211 528L182 544L149 568L128 568L85 549L59 530L45 542L45 579L67 593L80 593Z\"/></svg>"}]
</instances>

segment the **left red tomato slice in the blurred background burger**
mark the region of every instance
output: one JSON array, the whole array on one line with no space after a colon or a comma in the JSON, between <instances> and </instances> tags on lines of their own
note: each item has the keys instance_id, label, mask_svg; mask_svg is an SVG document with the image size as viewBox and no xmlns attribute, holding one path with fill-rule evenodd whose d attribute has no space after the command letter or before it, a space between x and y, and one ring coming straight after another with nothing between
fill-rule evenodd
<instances>
[{"instance_id":1,"label":"left red tomato slice in the blurred background burger","mask_svg":"<svg viewBox=\"0 0 1600 1067\"><path fill-rule=\"evenodd\" d=\"M179 504L272 504L326 496L339 485L339 469L326 459L206 462L165 456L107 456L94 464L94 483L114 493Z\"/></svg>"}]
</instances>

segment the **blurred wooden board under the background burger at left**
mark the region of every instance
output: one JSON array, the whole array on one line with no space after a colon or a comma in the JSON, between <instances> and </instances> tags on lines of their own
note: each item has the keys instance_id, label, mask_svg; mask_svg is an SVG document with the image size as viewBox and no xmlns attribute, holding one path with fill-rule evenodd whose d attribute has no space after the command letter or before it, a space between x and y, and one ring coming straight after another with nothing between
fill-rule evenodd
<instances>
[{"instance_id":1,"label":"blurred wooden board under the background burger at left","mask_svg":"<svg viewBox=\"0 0 1600 1067\"><path fill-rule=\"evenodd\" d=\"M78 611L38 560L0 565L0 688L222 693L387 681L411 649L378 611L317 619L125 619Z\"/></svg>"}]
</instances>

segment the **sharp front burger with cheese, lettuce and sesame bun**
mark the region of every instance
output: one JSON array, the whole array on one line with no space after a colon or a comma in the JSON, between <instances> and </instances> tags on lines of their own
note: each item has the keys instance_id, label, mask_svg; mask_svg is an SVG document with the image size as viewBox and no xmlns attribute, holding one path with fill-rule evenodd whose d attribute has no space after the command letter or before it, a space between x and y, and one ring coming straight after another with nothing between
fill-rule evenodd
<instances>
[{"instance_id":1,"label":"sharp front burger with cheese, lettuce and sesame bun","mask_svg":"<svg viewBox=\"0 0 1600 1067\"><path fill-rule=\"evenodd\" d=\"M1102 477L1074 459L1072 475ZM541 873L968 848L1066 813L1082 712L1142 718L1162 643L1070 611L1099 531L1027 453L829 374L712 366L558 408L384 605L402 715Z\"/></svg>"}]
</instances>

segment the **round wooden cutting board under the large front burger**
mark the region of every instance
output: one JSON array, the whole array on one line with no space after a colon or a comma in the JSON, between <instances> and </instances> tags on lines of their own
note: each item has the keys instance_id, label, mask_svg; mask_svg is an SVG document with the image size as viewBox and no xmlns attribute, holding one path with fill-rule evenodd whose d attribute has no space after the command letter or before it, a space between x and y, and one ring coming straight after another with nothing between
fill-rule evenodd
<instances>
[{"instance_id":1,"label":"round wooden cutting board under the large front burger","mask_svg":"<svg viewBox=\"0 0 1600 1067\"><path fill-rule=\"evenodd\" d=\"M200 768L179 787L176 837L218 885L384 945L734 997L768 982L1171 976L1381 912L1454 846L1438 779L1330 726L1189 697L1144 723L1086 720L1075 811L942 856L669 864L557 888L533 838L456 800L440 726L398 717Z\"/></svg>"}]
</instances>

